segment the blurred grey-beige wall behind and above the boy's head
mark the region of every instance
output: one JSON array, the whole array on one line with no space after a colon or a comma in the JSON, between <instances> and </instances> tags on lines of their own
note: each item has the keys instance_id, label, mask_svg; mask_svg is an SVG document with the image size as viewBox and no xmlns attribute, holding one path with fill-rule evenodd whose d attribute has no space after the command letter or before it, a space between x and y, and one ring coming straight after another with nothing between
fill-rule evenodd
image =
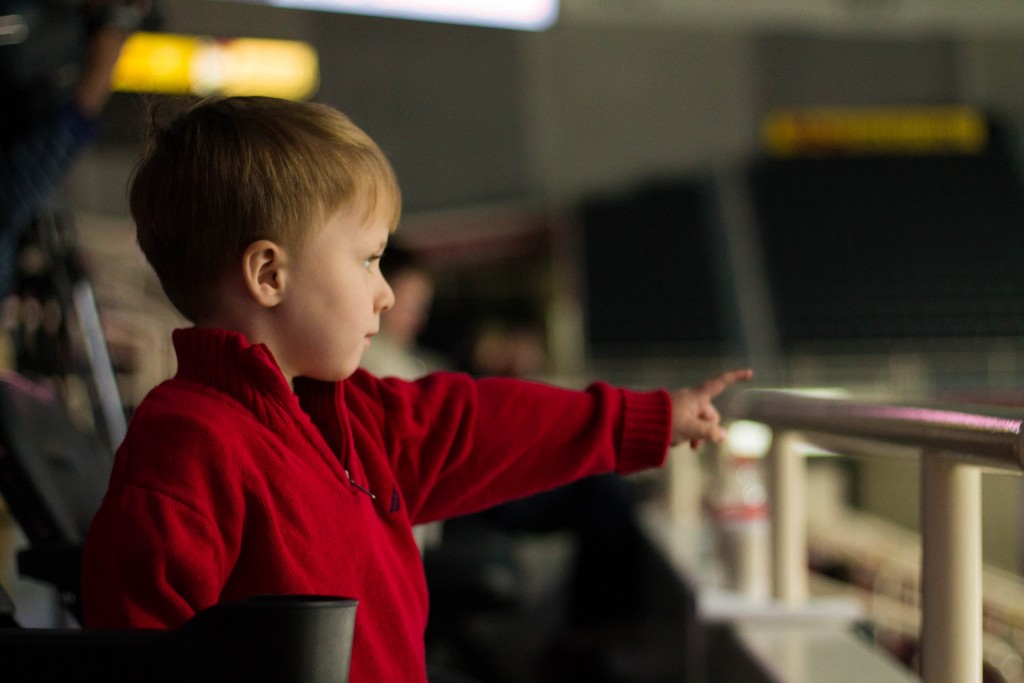
<instances>
[{"instance_id":1,"label":"blurred grey-beige wall behind and above the boy's head","mask_svg":"<svg viewBox=\"0 0 1024 683\"><path fill-rule=\"evenodd\" d=\"M872 34L595 22L567 4L562 23L532 34L217 0L158 6L168 32L311 42L316 98L381 142L414 212L571 201L735 164L756 150L760 116L774 105L966 100L1024 123L1016 25ZM113 103L104 140L76 174L80 205L123 211L139 118L137 98Z\"/></svg>"}]
</instances>

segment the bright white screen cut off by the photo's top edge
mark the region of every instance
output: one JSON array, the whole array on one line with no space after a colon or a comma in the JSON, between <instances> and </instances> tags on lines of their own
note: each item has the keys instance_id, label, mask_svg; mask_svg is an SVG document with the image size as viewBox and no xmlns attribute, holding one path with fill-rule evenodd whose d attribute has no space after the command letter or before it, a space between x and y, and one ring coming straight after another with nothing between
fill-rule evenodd
<instances>
[{"instance_id":1,"label":"bright white screen cut off by the photo's top edge","mask_svg":"<svg viewBox=\"0 0 1024 683\"><path fill-rule=\"evenodd\" d=\"M558 16L558 0L253 0L275 7L543 31Z\"/></svg>"}]
</instances>

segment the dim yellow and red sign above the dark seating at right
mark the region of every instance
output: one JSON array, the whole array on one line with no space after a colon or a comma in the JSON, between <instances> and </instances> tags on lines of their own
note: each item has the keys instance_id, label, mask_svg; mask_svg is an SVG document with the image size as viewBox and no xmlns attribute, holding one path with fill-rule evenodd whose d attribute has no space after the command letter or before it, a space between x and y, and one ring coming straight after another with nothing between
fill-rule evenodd
<instances>
[{"instance_id":1,"label":"dim yellow and red sign above the dark seating at right","mask_svg":"<svg viewBox=\"0 0 1024 683\"><path fill-rule=\"evenodd\" d=\"M780 111L761 132L779 157L978 154L988 141L984 115L961 105Z\"/></svg>"}]
</instances>

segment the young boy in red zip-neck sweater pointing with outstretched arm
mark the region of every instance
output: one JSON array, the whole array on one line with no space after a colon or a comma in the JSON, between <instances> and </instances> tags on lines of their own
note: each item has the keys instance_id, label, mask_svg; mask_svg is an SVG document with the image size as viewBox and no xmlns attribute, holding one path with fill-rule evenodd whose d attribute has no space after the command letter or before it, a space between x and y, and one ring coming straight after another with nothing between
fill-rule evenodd
<instances>
[{"instance_id":1,"label":"young boy in red zip-neck sweater pointing with outstretched arm","mask_svg":"<svg viewBox=\"0 0 1024 683\"><path fill-rule=\"evenodd\" d=\"M393 295L378 146L338 112L206 100L152 135L138 242L195 324L138 407L86 542L90 628L175 628L253 594L356 598L351 680L426 680L411 525L719 440L736 371L674 394L358 370Z\"/></svg>"}]
</instances>

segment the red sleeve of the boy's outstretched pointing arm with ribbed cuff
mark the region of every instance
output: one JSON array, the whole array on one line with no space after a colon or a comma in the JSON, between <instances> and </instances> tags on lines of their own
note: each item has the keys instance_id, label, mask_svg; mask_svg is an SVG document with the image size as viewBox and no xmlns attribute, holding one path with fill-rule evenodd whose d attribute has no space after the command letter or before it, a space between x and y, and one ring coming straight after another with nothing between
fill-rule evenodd
<instances>
[{"instance_id":1,"label":"red sleeve of the boy's outstretched pointing arm with ribbed cuff","mask_svg":"<svg viewBox=\"0 0 1024 683\"><path fill-rule=\"evenodd\" d=\"M660 466L665 391L584 391L437 373L416 382L357 373L356 423L376 424L414 522L467 514L585 476Z\"/></svg>"}]
</instances>

